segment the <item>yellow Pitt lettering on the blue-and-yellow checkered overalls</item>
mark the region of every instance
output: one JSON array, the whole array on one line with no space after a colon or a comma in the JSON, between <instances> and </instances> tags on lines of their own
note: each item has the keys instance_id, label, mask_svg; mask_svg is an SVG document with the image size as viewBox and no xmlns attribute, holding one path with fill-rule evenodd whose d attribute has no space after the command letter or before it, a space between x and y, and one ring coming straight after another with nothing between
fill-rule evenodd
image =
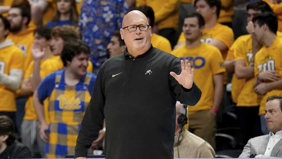
<instances>
[{"instance_id":1,"label":"yellow Pitt lettering on the blue-and-yellow checkered overalls","mask_svg":"<svg viewBox=\"0 0 282 159\"><path fill-rule=\"evenodd\" d=\"M59 95L57 99L59 101L59 108L62 110L75 110L81 109L81 101L79 98L70 98L69 95Z\"/></svg>"}]
</instances>

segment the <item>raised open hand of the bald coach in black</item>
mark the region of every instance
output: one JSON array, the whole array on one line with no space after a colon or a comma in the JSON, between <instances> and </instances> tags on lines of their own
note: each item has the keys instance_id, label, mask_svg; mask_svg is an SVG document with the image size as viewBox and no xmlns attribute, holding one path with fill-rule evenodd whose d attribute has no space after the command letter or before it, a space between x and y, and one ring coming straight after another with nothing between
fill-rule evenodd
<instances>
[{"instance_id":1,"label":"raised open hand of the bald coach in black","mask_svg":"<svg viewBox=\"0 0 282 159\"><path fill-rule=\"evenodd\" d=\"M179 75L174 72L170 72L170 75L176 79L176 81L186 89L190 89L193 86L194 69L191 69L191 64L188 60L181 60L181 73Z\"/></svg>"}]
</instances>

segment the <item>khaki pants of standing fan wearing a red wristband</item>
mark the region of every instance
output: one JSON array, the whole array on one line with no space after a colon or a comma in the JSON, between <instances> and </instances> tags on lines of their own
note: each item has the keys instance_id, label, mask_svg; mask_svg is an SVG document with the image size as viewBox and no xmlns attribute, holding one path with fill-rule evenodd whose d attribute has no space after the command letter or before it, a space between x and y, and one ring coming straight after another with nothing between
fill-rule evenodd
<instances>
[{"instance_id":1,"label":"khaki pants of standing fan wearing a red wristband","mask_svg":"<svg viewBox=\"0 0 282 159\"><path fill-rule=\"evenodd\" d=\"M189 131L207 141L214 149L216 148L216 114L211 110L189 114Z\"/></svg>"}]
</instances>

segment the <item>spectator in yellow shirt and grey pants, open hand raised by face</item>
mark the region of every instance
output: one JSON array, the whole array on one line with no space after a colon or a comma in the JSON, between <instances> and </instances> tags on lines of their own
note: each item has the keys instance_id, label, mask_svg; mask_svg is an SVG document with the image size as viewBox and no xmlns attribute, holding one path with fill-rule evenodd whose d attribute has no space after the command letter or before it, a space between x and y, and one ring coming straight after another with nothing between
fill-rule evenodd
<instances>
[{"instance_id":1,"label":"spectator in yellow shirt and grey pants, open hand raised by face","mask_svg":"<svg viewBox=\"0 0 282 159\"><path fill-rule=\"evenodd\" d=\"M50 27L40 27L34 31L33 54L35 54L34 57L36 58L40 57L40 63L49 59L53 55L50 50L50 40ZM43 57L41 58L41 56ZM34 61L36 65L37 59L34 59ZM23 144L28 146L31 150L33 157L36 152L35 150L38 150L40 155L44 157L45 143L39 136L39 122L34 110L32 97L34 92L32 89L34 61L29 64L28 69L25 71L24 80L21 86L21 93L28 97L27 102L25 103L24 121L21 125L21 138Z\"/></svg>"}]
</instances>

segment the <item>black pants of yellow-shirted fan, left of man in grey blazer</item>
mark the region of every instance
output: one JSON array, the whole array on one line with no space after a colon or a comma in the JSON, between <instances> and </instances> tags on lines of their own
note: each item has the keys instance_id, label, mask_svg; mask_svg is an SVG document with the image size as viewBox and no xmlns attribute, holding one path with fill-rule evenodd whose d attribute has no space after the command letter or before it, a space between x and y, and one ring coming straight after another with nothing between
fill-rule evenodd
<instances>
[{"instance_id":1,"label":"black pants of yellow-shirted fan, left of man in grey blazer","mask_svg":"<svg viewBox=\"0 0 282 159\"><path fill-rule=\"evenodd\" d=\"M236 114L240 121L244 145L250 138L261 136L259 106L237 106Z\"/></svg>"}]
</instances>

